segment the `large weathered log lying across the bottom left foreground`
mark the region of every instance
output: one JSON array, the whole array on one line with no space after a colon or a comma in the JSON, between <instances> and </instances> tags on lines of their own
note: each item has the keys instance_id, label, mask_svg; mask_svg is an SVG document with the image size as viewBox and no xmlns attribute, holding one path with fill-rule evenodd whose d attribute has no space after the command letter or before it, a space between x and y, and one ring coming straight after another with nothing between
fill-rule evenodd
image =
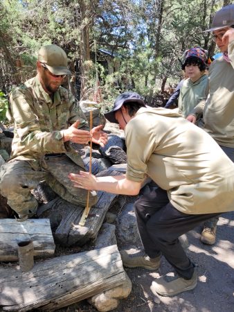
<instances>
[{"instance_id":1,"label":"large weathered log lying across the bottom left foreground","mask_svg":"<svg viewBox=\"0 0 234 312\"><path fill-rule=\"evenodd\" d=\"M0 268L3 311L53 311L126 281L116 245L35 263L30 272Z\"/></svg>"}]
</instances>

